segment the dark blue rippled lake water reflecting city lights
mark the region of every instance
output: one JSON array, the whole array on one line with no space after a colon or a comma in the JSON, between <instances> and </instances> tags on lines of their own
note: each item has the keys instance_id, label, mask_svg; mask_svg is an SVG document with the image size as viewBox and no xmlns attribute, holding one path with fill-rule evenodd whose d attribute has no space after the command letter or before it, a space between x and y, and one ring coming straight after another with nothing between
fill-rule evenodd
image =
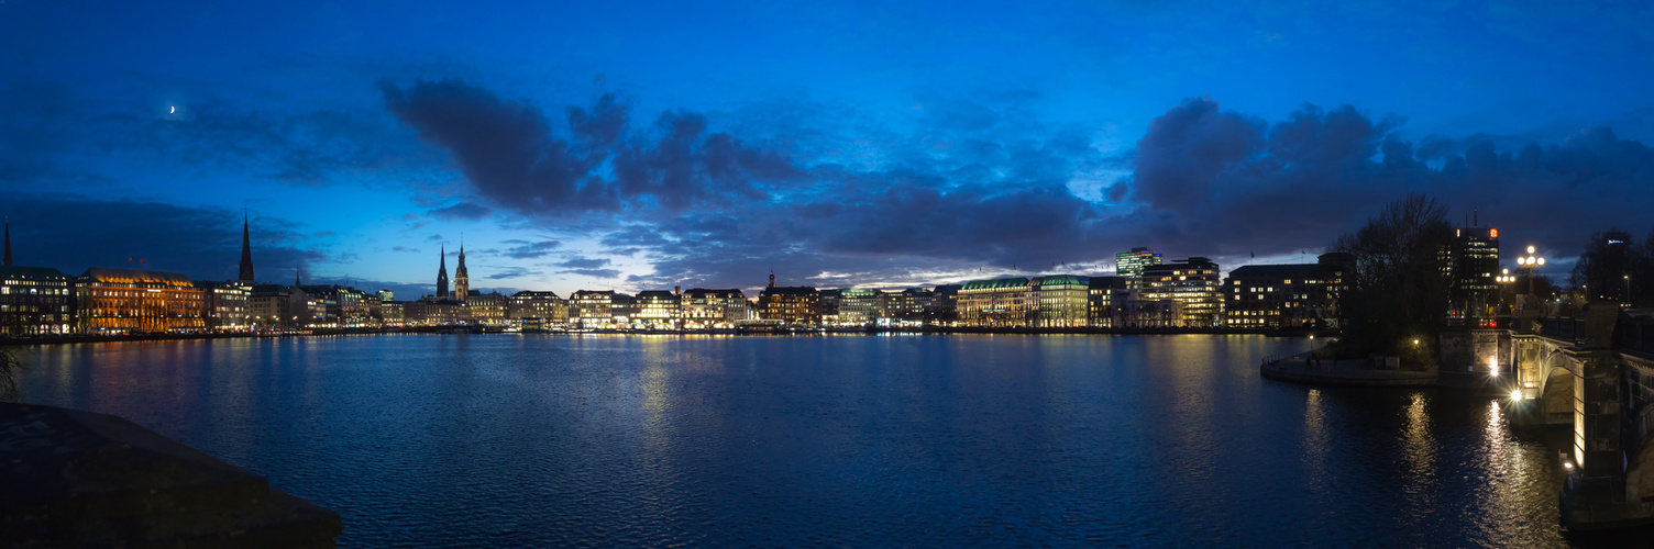
<instances>
[{"instance_id":1,"label":"dark blue rippled lake water reflecting city lights","mask_svg":"<svg viewBox=\"0 0 1654 549\"><path fill-rule=\"evenodd\" d=\"M26 347L364 546L1566 546L1566 433L1259 377L1262 336L339 336Z\"/></svg>"}]
</instances>

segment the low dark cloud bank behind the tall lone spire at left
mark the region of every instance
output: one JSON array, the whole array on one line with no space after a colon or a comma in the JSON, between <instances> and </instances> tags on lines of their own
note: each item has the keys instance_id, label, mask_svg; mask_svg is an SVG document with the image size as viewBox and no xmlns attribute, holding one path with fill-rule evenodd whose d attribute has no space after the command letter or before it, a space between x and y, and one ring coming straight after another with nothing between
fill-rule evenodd
<instances>
[{"instance_id":1,"label":"low dark cloud bank behind the tall lone spire at left","mask_svg":"<svg viewBox=\"0 0 1654 549\"><path fill-rule=\"evenodd\" d=\"M238 210L23 193L8 195L3 208L12 222L17 265L51 266L68 274L89 266L142 268L195 279L233 279L240 270ZM281 218L251 218L260 281L289 281L298 268L354 256L303 245L309 238L296 228Z\"/></svg>"}]
</instances>

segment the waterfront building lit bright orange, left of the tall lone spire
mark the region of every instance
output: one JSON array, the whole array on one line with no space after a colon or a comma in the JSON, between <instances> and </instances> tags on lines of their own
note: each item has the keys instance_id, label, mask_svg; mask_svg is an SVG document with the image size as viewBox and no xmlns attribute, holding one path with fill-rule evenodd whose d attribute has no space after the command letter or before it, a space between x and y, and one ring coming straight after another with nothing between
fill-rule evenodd
<instances>
[{"instance_id":1,"label":"waterfront building lit bright orange, left of the tall lone spire","mask_svg":"<svg viewBox=\"0 0 1654 549\"><path fill-rule=\"evenodd\" d=\"M76 331L174 332L207 327L202 289L189 276L89 268L74 279Z\"/></svg>"}]
</instances>

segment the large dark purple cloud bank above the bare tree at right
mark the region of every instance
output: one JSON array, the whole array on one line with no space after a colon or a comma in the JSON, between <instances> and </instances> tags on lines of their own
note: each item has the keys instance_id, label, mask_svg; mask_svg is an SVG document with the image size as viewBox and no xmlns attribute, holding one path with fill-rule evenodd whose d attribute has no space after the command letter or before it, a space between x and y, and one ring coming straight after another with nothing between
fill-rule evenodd
<instances>
[{"instance_id":1,"label":"large dark purple cloud bank above the bare tree at right","mask_svg":"<svg viewBox=\"0 0 1654 549\"><path fill-rule=\"evenodd\" d=\"M1408 192L1452 205L1454 222L1479 208L1484 227L1553 250L1651 222L1654 149L1609 129L1502 147L1512 141L1482 134L1414 144L1403 122L1305 104L1270 124L1186 99L1138 141L1130 195L1141 208L1118 225L1191 253L1315 251Z\"/></svg>"}]
</instances>

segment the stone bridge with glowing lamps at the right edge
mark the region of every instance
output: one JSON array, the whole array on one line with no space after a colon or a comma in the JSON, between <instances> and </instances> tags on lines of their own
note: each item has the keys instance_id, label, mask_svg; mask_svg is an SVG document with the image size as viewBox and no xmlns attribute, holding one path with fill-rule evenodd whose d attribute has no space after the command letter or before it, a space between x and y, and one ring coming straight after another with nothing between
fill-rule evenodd
<instances>
[{"instance_id":1,"label":"stone bridge with glowing lamps at the right edge","mask_svg":"<svg viewBox=\"0 0 1654 549\"><path fill-rule=\"evenodd\" d=\"M1591 304L1581 317L1442 334L1442 382L1484 384L1518 425L1573 430L1561 519L1589 531L1654 523L1654 317Z\"/></svg>"}]
</instances>

